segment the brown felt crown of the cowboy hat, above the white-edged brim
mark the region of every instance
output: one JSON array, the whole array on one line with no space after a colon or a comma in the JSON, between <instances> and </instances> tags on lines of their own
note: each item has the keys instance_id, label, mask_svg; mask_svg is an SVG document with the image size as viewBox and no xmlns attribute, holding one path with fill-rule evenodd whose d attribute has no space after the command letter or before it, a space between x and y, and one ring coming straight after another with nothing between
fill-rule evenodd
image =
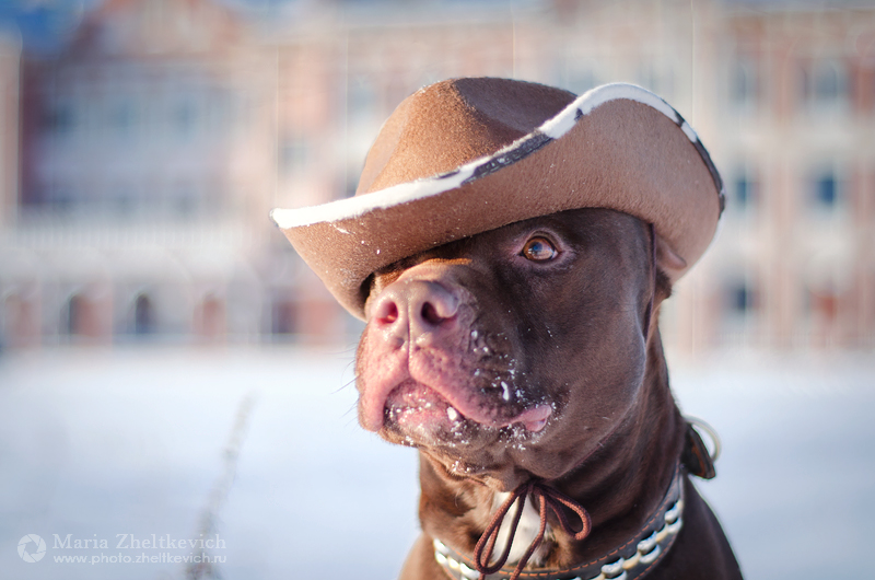
<instances>
[{"instance_id":1,"label":"brown felt crown of the cowboy hat, above the white-edged brim","mask_svg":"<svg viewBox=\"0 0 875 580\"><path fill-rule=\"evenodd\" d=\"M510 79L453 79L413 93L371 147L355 195L441 175L525 137L575 98Z\"/></svg>"}]
</instances>

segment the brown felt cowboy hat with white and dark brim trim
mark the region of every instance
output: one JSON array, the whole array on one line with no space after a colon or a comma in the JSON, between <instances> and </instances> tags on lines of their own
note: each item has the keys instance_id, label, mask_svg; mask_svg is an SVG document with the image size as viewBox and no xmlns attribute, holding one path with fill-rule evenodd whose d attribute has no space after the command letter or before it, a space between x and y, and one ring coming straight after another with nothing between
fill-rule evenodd
<instances>
[{"instance_id":1,"label":"brown felt cowboy hat with white and dark brim trim","mask_svg":"<svg viewBox=\"0 0 875 580\"><path fill-rule=\"evenodd\" d=\"M704 253L723 185L692 128L631 84L580 97L506 79L455 79L384 124L354 197L275 209L273 221L350 313L376 270L516 221L609 208L654 225L672 281ZM657 258L660 259L660 258Z\"/></svg>"}]
</instances>

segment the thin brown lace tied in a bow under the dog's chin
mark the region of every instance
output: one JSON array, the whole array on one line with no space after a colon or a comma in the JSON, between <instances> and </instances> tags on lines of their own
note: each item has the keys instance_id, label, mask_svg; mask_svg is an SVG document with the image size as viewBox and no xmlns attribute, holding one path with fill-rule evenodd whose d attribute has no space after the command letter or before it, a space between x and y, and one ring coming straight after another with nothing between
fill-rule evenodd
<instances>
[{"instance_id":1,"label":"thin brown lace tied in a bow under the dog's chin","mask_svg":"<svg viewBox=\"0 0 875 580\"><path fill-rule=\"evenodd\" d=\"M477 568L477 571L480 572L480 580L483 580L487 575L499 571L508 561L508 556L510 555L511 546L513 545L513 536L516 534L516 527L520 525L520 519L523 515L523 509L526 506L526 497L528 496L532 496L533 503L539 503L538 513L540 514L540 525L538 527L538 534L535 536L535 540L532 541L532 544L529 544L528 549L526 549L526 553L523 555L523 557L520 558L520 561L516 564L516 568L514 568L510 580L516 580L520 577L520 573L522 573L526 562L532 555L535 554L535 550L538 549L538 546L544 541L544 533L547 530L548 507L556 514L556 519L559 521L559 527L574 537L574 540L580 541L590 535L592 522L590 521L590 514L583 508L583 506L541 482L534 479L529 480L514 489L513 494L511 494L504 503L501 504L495 514L492 517L492 521L490 521L489 525L487 525L483 535L480 536L480 541L477 542L477 546L474 548L474 564ZM508 514L511 506L514 503L517 503L517 508L513 515L510 534L508 535L508 544L504 546L501 557L499 557L494 564L490 565L489 560L492 559L492 552L495 547L499 530L504 521L504 517ZM579 532L575 532L571 526L571 523L569 522L568 518L565 517L565 512L562 509L563 507L573 511L580 518L581 530Z\"/></svg>"}]
</instances>

